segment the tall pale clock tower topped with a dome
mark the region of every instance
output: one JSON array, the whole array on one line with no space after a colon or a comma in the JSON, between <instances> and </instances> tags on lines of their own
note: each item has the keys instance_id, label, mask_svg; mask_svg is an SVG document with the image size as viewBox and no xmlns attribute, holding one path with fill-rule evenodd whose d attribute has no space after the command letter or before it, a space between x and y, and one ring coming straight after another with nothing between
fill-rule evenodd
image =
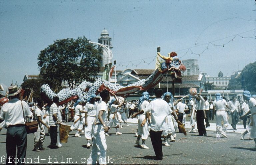
<instances>
[{"instance_id":1,"label":"tall pale clock tower topped with a dome","mask_svg":"<svg viewBox=\"0 0 256 165\"><path fill-rule=\"evenodd\" d=\"M111 43L112 38L109 37L108 31L104 28L100 34L100 38L98 39L98 43L105 45L112 51L112 43ZM105 64L111 63L112 60L109 58L109 54L105 49L103 49L101 46L98 46L98 49L102 49L103 54L101 55L102 57L102 62L101 65L105 66Z\"/></svg>"}]
</instances>

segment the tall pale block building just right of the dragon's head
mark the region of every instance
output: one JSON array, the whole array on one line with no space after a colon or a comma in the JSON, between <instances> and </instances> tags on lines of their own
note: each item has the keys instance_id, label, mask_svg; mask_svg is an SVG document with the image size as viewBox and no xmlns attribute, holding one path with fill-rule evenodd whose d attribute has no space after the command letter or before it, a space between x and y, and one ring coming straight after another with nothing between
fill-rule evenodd
<instances>
[{"instance_id":1,"label":"tall pale block building just right of the dragon's head","mask_svg":"<svg viewBox=\"0 0 256 165\"><path fill-rule=\"evenodd\" d=\"M197 59L182 60L182 63L186 66L184 76L199 75L199 65Z\"/></svg>"}]
</instances>

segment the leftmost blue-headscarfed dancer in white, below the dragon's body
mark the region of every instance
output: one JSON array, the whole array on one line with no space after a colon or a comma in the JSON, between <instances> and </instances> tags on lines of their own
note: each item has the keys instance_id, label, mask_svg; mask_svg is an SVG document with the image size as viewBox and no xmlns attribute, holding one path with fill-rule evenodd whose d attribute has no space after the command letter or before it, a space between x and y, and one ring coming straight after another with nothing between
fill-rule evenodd
<instances>
[{"instance_id":1,"label":"leftmost blue-headscarfed dancer in white, below the dragon's body","mask_svg":"<svg viewBox=\"0 0 256 165\"><path fill-rule=\"evenodd\" d=\"M78 99L75 103L75 116L74 116L74 122L72 124L72 126L70 127L71 131L77 130L75 137L81 137L81 135L79 134L79 132L82 131L83 129L83 124L82 124L82 112L83 111L83 106L82 106L82 100Z\"/></svg>"}]
</instances>

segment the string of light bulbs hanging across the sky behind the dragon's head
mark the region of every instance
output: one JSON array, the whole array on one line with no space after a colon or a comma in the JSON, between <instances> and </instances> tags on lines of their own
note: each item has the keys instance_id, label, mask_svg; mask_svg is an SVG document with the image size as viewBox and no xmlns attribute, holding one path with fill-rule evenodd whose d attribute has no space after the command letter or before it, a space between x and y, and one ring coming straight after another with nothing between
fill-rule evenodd
<instances>
[{"instance_id":1,"label":"string of light bulbs hanging across the sky behind the dragon's head","mask_svg":"<svg viewBox=\"0 0 256 165\"><path fill-rule=\"evenodd\" d=\"M214 40L214 41L210 41L210 42L207 42L207 43L203 43L203 44L200 44L200 45L196 45L196 46L193 46L193 47L189 47L189 48L185 48L185 49L181 49L181 50L177 50L175 52L180 52L180 51L183 51L183 50L187 50L185 54L183 54L181 58L183 58L185 55L187 55L189 52L191 54L195 54L195 55L198 55L200 57L200 55L202 55L206 50L209 50L209 46L212 45L213 47L223 47L224 48L224 45L227 45L229 44L230 42L233 42L234 39L236 37L240 37L242 39L251 39L251 38L254 38L256 39L256 36L253 36L253 37L244 37L242 36L241 34L244 34L244 33L247 33L247 32L250 32L250 31L254 31L256 29L252 29L252 30L249 30L249 31L245 31L245 32L242 32L242 33L239 33L239 34L235 34L235 35L232 35L232 36L228 36L228 37L225 37L225 38L221 38L221 39L218 39L218 40ZM225 42L225 43L222 43L222 44L215 44L214 42L217 42L217 41L220 41L220 40L223 40L223 39L227 39L227 38L231 38L228 42ZM195 48L195 47L198 47L198 46L202 46L202 45L207 45L205 49L203 49L200 53L196 53L196 52L193 52L192 48ZM166 54L166 53L164 53ZM153 58L152 61L150 62L147 62L145 61L145 59L149 59L149 58ZM151 56L151 57L147 57L147 58L143 58L143 59L137 59L137 60L132 60L132 61L125 61L125 62L120 62L116 67L118 66L122 66L122 67L126 67L129 66L129 65L132 65L133 67L138 67L139 64L142 64L142 63L146 63L148 65L150 65L152 62L155 61L155 58L156 56ZM134 61L140 61L139 63L134 63ZM127 63L127 65L125 65L124 63Z\"/></svg>"}]
</instances>

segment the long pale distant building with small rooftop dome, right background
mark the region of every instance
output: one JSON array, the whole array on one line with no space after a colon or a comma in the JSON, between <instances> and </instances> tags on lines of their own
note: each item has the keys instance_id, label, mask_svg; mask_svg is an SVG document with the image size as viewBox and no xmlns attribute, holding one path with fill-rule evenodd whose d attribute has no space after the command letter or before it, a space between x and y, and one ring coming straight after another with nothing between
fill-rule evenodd
<instances>
[{"instance_id":1,"label":"long pale distant building with small rooftop dome, right background","mask_svg":"<svg viewBox=\"0 0 256 165\"><path fill-rule=\"evenodd\" d=\"M227 89L229 80L231 79L229 76L223 77L223 73L220 71L218 77L210 77L210 75L206 75L206 82L213 83L217 88Z\"/></svg>"}]
</instances>

